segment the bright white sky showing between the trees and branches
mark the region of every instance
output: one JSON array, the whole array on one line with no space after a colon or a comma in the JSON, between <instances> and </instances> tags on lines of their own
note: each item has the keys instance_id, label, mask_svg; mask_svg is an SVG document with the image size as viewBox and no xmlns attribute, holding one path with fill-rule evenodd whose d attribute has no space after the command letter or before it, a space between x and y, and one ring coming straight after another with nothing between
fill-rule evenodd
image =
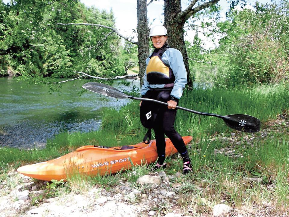
<instances>
[{"instance_id":1,"label":"bright white sky showing between the trees and branches","mask_svg":"<svg viewBox=\"0 0 289 217\"><path fill-rule=\"evenodd\" d=\"M3 0L4 3L10 2L10 0ZM133 30L137 27L137 0L80 0L87 7L94 6L99 8L101 11L110 11L112 9L116 28L120 30L124 36L133 36L134 40L137 41L137 35ZM149 2L149 0L148 0ZM182 0L182 9L185 9L188 5L189 0ZM253 8L256 0L247 0L246 8ZM270 3L270 0L258 0L258 2L266 4ZM148 6L148 24L152 27L157 24L162 24L164 21L163 17L163 5L164 1L154 1ZM221 17L225 19L225 12L228 10L229 4L227 0L220 0L219 5L223 8L221 11ZM185 39L192 42L195 35L195 31L188 30ZM216 46L210 39L206 39L202 34L198 35L204 41L204 48L209 49ZM216 36L217 37L217 36Z\"/></svg>"}]
</instances>

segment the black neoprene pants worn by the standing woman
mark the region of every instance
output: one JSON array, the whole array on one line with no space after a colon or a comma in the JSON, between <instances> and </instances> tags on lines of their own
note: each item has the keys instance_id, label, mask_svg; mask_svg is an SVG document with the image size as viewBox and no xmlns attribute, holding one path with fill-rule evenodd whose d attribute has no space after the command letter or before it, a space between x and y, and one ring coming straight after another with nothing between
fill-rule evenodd
<instances>
[{"instance_id":1,"label":"black neoprene pants worn by the standing woman","mask_svg":"<svg viewBox=\"0 0 289 217\"><path fill-rule=\"evenodd\" d=\"M171 99L171 90L149 90L149 92L151 92L148 94L151 96L150 98L157 99L159 101L168 102ZM183 157L184 162L189 161L190 159L184 140L174 128L177 109L169 109L166 105L161 104L156 104L155 106L160 106L160 111L157 115L155 127L153 128L156 137L159 164L163 164L165 159L166 142L164 134L172 141L172 144Z\"/></svg>"}]
</instances>

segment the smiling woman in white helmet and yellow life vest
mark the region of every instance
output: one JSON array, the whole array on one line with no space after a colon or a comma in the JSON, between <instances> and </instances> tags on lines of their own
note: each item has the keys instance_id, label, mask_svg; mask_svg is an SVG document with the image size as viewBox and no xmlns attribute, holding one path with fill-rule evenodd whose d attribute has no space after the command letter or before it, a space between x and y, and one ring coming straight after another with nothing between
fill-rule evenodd
<instances>
[{"instance_id":1,"label":"smiling woman in white helmet and yellow life vest","mask_svg":"<svg viewBox=\"0 0 289 217\"><path fill-rule=\"evenodd\" d=\"M166 44L167 30L162 25L151 28L150 38L153 42L154 52L146 59L147 68L144 75L144 85L141 87L141 95L144 98L157 99L167 102L168 106L158 106L157 117L154 122L157 144L158 160L154 169L166 168L165 137L172 141L183 158L183 173L192 171L191 161L182 137L174 128L176 118L176 106L182 96L187 83L187 72L182 54L179 50L169 48ZM144 106L141 101L140 106Z\"/></svg>"}]
</instances>

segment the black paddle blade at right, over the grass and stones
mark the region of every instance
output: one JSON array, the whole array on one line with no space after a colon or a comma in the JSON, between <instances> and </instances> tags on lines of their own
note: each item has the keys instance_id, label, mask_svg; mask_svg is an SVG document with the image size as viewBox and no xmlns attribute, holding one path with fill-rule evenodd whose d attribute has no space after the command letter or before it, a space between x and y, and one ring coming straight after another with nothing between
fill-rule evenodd
<instances>
[{"instance_id":1,"label":"black paddle blade at right, over the grass and stones","mask_svg":"<svg viewBox=\"0 0 289 217\"><path fill-rule=\"evenodd\" d=\"M223 116L223 120L228 127L247 133L259 132L261 127L261 121L250 115L226 115Z\"/></svg>"}]
</instances>

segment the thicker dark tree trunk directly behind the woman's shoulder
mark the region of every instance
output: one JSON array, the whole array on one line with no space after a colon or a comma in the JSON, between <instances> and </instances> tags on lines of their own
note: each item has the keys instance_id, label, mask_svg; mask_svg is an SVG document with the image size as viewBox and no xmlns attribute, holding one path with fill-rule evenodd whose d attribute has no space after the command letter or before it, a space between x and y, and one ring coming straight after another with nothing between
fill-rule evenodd
<instances>
[{"instance_id":1,"label":"thicker dark tree trunk directly behind the woman's shoulder","mask_svg":"<svg viewBox=\"0 0 289 217\"><path fill-rule=\"evenodd\" d=\"M178 20L177 14L182 11L181 0L164 0L165 9L164 17L165 23L164 26L168 30L168 44L170 47L178 49L184 58L185 67L187 70L188 76L188 87L193 86L194 75L191 75L188 62L188 54L185 46L184 40L184 20Z\"/></svg>"}]
</instances>

